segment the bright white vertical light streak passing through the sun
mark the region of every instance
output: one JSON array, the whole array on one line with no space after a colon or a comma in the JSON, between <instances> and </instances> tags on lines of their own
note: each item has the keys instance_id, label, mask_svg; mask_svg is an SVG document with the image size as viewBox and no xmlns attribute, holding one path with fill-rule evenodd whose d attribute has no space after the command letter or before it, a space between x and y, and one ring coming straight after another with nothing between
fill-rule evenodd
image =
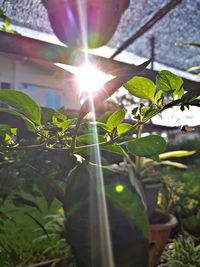
<instances>
[{"instance_id":1,"label":"bright white vertical light streak passing through the sun","mask_svg":"<svg viewBox=\"0 0 200 267\"><path fill-rule=\"evenodd\" d=\"M89 64L88 60L88 46L87 46L87 2L86 0L77 0L78 5L78 12L79 12L79 19L80 19L80 30L82 35L82 43L85 51L85 64ZM87 86L87 85L86 85ZM88 88L90 89L90 88ZM89 91L90 95L90 111L93 114L93 121L96 121L96 115L95 115L95 107L92 100L92 94L91 91ZM93 142L99 143L98 140L98 134L97 134L97 128L96 124L92 124L93 127ZM105 187L104 187L104 179L103 179L103 172L101 166L101 155L100 155L100 149L99 146L95 146L91 150L91 157L92 161L95 163L95 171L94 171L94 177L92 179L95 179L95 185L96 185L96 201L97 201L97 209L98 209L98 219L99 219L99 237L100 240L94 240L94 234L91 232L91 245L92 245L92 254L91 259L95 255L100 255L101 258L101 266L104 267L114 267L114 260L113 260L113 252L112 252L112 244L111 244L111 236L110 236L110 227L109 227L109 220L108 220L108 211L107 211L107 205L106 205L106 198L105 198ZM93 191L94 192L94 191ZM92 192L91 192L92 194ZM92 200L92 197L91 197ZM94 206L91 201L91 218L93 218L93 215L96 214L96 211L94 211ZM97 229L92 229L92 231L97 231ZM99 244L96 244L97 242L100 242ZM95 249L100 249L100 251L95 251ZM95 261L95 260L94 260ZM95 265L94 265L95 264ZM96 267L99 263L92 263L93 267ZM99 265L98 265L99 266Z\"/></svg>"}]
</instances>

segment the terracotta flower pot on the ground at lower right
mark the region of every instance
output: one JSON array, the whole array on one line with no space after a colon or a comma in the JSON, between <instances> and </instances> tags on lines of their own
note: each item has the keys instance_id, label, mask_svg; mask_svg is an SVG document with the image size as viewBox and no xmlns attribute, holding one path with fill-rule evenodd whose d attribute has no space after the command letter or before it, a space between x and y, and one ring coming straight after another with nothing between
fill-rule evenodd
<instances>
[{"instance_id":1,"label":"terracotta flower pot on the ground at lower right","mask_svg":"<svg viewBox=\"0 0 200 267\"><path fill-rule=\"evenodd\" d=\"M150 267L159 263L170 233L177 225L177 219L172 214L166 215L156 211L154 215L158 220L155 223L150 223Z\"/></svg>"}]
</instances>

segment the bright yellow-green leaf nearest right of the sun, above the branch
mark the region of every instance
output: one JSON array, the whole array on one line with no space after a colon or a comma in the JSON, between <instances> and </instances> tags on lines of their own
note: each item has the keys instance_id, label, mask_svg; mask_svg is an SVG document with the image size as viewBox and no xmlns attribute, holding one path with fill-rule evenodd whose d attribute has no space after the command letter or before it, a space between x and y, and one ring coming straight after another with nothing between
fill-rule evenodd
<instances>
[{"instance_id":1,"label":"bright yellow-green leaf nearest right of the sun, above the branch","mask_svg":"<svg viewBox=\"0 0 200 267\"><path fill-rule=\"evenodd\" d=\"M124 87L133 96L154 101L156 86L151 80L147 78L135 76L130 81L128 81L124 85Z\"/></svg>"}]
</instances>

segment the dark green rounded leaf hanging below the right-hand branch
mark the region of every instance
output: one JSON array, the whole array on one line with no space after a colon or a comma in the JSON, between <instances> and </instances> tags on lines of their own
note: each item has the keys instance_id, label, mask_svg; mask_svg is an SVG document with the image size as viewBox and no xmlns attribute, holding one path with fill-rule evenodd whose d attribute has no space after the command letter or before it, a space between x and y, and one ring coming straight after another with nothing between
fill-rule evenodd
<instances>
[{"instance_id":1,"label":"dark green rounded leaf hanging below the right-hand branch","mask_svg":"<svg viewBox=\"0 0 200 267\"><path fill-rule=\"evenodd\" d=\"M129 152L136 156L158 159L157 155L165 150L166 141L159 135L149 135L128 142Z\"/></svg>"}]
</instances>

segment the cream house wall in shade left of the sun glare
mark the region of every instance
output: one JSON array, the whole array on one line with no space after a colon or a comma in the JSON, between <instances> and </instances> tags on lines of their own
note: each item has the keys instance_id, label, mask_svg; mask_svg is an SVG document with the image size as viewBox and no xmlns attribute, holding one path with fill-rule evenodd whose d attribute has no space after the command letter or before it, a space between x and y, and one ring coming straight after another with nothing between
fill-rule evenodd
<instances>
[{"instance_id":1,"label":"cream house wall in shade left of the sun glare","mask_svg":"<svg viewBox=\"0 0 200 267\"><path fill-rule=\"evenodd\" d=\"M62 106L66 109L79 109L78 93L69 82L67 74L56 68L48 69L26 58L0 54L0 84L10 83L15 90L22 90L24 83L38 86L41 90L37 90L37 95L32 93L31 96L41 106L45 106L45 92L56 89L61 95Z\"/></svg>"}]
</instances>

